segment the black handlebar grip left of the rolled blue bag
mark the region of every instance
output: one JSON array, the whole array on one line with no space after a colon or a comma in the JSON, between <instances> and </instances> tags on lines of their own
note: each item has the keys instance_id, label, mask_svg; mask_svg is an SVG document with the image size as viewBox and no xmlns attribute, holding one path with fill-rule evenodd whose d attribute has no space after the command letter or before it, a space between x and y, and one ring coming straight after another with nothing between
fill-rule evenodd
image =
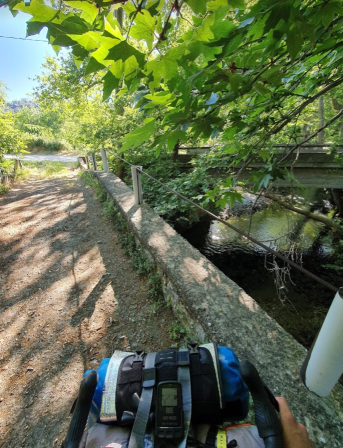
<instances>
[{"instance_id":1,"label":"black handlebar grip left of the rolled blue bag","mask_svg":"<svg viewBox=\"0 0 343 448\"><path fill-rule=\"evenodd\" d=\"M80 448L97 380L98 374L96 370L91 370L82 379L76 406L61 448Z\"/></svg>"}]
</instances>

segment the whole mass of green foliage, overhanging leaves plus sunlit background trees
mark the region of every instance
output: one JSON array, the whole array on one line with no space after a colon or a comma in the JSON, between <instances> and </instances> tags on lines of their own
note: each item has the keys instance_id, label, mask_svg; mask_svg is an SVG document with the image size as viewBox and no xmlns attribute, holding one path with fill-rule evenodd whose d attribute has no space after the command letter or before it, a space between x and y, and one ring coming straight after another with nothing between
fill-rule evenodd
<instances>
[{"instance_id":1,"label":"whole mass of green foliage, overhanging leaves plus sunlit background trees","mask_svg":"<svg viewBox=\"0 0 343 448\"><path fill-rule=\"evenodd\" d=\"M299 144L311 133L311 142L322 141L324 131L332 150L343 141L340 1L5 0L1 6L32 16L27 35L46 26L55 51L70 50L46 58L34 104L15 108L13 126L30 147L34 139L65 138L82 153L108 148L206 207L223 207L241 199L235 173L256 157L264 166L246 179L254 191L293 178L285 163L295 146L280 161L274 143ZM45 143L44 150L58 146ZM182 146L203 145L209 150L190 174L167 162ZM109 162L123 177L122 164L112 156ZM210 168L226 169L226 180L209 180ZM147 200L170 222L198 218L144 182Z\"/></svg>"}]
</instances>

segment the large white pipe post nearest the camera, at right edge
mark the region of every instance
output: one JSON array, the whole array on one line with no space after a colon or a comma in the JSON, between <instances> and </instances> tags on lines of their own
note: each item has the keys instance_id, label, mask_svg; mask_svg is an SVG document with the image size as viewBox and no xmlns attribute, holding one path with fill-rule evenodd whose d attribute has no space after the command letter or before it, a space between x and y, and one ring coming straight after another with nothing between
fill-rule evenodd
<instances>
[{"instance_id":1,"label":"large white pipe post nearest the camera, at right edge","mask_svg":"<svg viewBox=\"0 0 343 448\"><path fill-rule=\"evenodd\" d=\"M343 288L340 288L302 364L300 377L309 390L327 396L342 372Z\"/></svg>"}]
</instances>

